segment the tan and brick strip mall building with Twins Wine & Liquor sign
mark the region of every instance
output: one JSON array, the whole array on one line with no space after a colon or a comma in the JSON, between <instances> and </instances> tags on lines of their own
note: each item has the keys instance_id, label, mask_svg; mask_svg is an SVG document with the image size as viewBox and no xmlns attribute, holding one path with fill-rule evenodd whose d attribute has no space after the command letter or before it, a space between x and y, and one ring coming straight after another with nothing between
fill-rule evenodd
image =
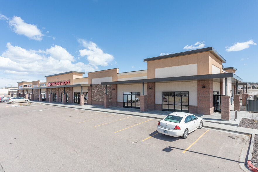
<instances>
[{"instance_id":1,"label":"tan and brick strip mall building with Twins Wine & Liquor sign","mask_svg":"<svg viewBox=\"0 0 258 172\"><path fill-rule=\"evenodd\" d=\"M18 95L31 100L212 114L221 95L237 94L242 79L212 47L144 59L147 70L118 68L45 76L46 82L18 82Z\"/></svg>"}]
</instances>

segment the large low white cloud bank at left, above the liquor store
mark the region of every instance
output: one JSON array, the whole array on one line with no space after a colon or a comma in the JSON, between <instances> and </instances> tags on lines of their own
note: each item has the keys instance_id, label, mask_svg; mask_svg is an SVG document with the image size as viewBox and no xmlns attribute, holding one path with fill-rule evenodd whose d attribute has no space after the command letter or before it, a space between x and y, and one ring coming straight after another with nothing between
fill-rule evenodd
<instances>
[{"instance_id":1,"label":"large low white cloud bank at left, above the liquor store","mask_svg":"<svg viewBox=\"0 0 258 172\"><path fill-rule=\"evenodd\" d=\"M75 58L58 45L45 51L26 50L11 43L7 43L6 47L8 49L0 56L0 69L6 74L45 76L71 70L92 72L98 69L82 62L71 63Z\"/></svg>"}]
</instances>

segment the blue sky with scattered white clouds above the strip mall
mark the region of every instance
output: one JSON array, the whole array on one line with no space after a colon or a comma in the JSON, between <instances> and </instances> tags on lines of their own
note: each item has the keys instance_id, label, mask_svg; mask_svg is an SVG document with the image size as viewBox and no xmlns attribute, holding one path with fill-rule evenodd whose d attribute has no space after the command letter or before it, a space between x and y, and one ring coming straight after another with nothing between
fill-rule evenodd
<instances>
[{"instance_id":1,"label":"blue sky with scattered white clouds above the strip mall","mask_svg":"<svg viewBox=\"0 0 258 172\"><path fill-rule=\"evenodd\" d=\"M258 1L0 1L0 87L213 47L258 82Z\"/></svg>"}]
</instances>

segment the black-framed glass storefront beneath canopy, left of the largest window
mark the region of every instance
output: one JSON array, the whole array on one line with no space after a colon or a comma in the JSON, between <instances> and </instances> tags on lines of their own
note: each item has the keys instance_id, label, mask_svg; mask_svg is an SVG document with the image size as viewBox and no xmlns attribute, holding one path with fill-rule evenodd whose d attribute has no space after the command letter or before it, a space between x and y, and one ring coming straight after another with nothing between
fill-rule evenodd
<instances>
[{"instance_id":1,"label":"black-framed glass storefront beneath canopy, left of the largest window","mask_svg":"<svg viewBox=\"0 0 258 172\"><path fill-rule=\"evenodd\" d=\"M123 92L123 107L140 109L141 92Z\"/></svg>"}]
</instances>

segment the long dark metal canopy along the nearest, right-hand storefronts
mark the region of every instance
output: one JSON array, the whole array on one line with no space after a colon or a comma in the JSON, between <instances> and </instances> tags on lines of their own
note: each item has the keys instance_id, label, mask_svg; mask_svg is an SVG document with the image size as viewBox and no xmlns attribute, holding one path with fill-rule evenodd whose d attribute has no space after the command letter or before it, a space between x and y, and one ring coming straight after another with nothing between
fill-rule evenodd
<instances>
[{"instance_id":1,"label":"long dark metal canopy along the nearest, right-hand storefronts","mask_svg":"<svg viewBox=\"0 0 258 172\"><path fill-rule=\"evenodd\" d=\"M113 84L136 84L142 82L188 82L197 80L213 80L214 82L221 82L224 78L227 78L228 83L242 82L235 73L218 73L208 75L192 75L192 76L179 76L179 77L168 77L168 78L152 78L152 79L141 79L141 80L125 80L125 81L113 81L113 82L101 82L101 85L113 85Z\"/></svg>"}]
</instances>

